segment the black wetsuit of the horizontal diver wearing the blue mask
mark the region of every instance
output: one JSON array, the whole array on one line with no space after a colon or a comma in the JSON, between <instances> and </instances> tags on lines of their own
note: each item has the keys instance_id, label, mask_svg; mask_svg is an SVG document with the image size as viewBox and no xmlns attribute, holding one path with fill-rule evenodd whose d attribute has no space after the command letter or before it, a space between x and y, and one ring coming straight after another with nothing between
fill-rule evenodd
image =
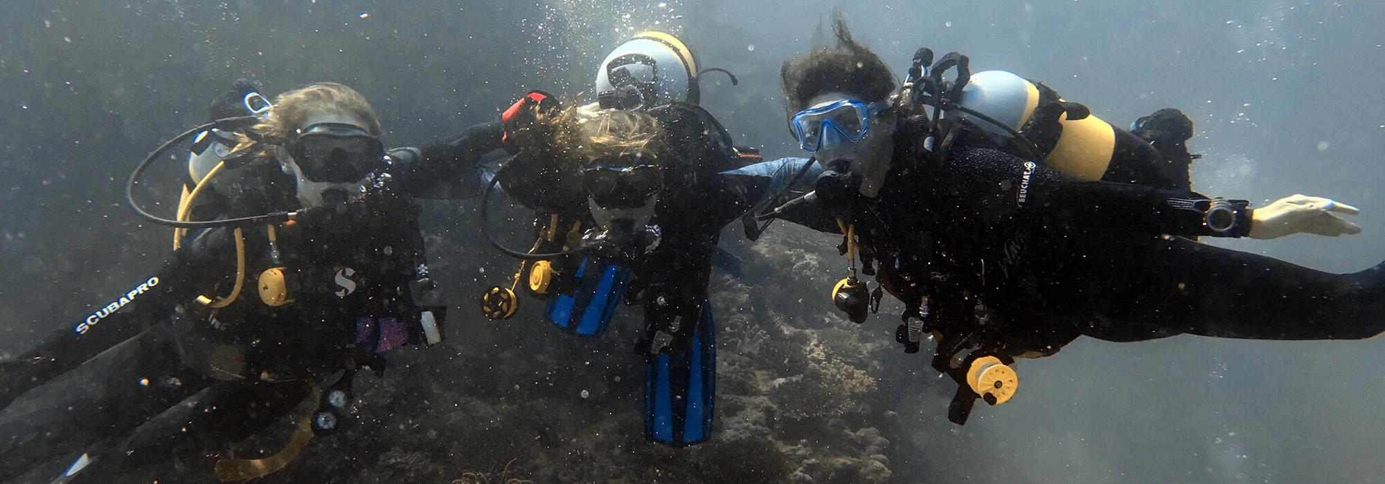
<instances>
[{"instance_id":1,"label":"black wetsuit of the horizontal diver wearing the blue mask","mask_svg":"<svg viewBox=\"0 0 1385 484\"><path fill-rule=\"evenodd\" d=\"M909 147L913 144L899 144ZM1192 333L1360 339L1385 329L1385 270L1327 274L1190 241L1205 225L1188 191L1076 181L1017 156L954 147L945 160L896 151L874 201L853 212L881 283L945 337L1006 355L1058 351L1080 335L1129 342ZM1190 203L1191 202L1191 203ZM997 329L999 328L999 329Z\"/></svg>"}]
</instances>

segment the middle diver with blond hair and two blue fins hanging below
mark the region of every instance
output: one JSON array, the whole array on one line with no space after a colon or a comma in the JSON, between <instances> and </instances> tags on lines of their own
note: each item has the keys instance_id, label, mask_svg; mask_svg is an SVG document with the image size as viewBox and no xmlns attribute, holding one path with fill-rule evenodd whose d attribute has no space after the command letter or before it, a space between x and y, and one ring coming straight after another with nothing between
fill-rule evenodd
<instances>
[{"instance_id":1,"label":"middle diver with blond hair and two blue fins hanging below","mask_svg":"<svg viewBox=\"0 0 1385 484\"><path fill-rule=\"evenodd\" d=\"M643 306L645 434L673 445L709 438L713 420L706 285L713 264L734 274L717 239L745 210L717 196L731 187L716 174L760 160L697 105L706 72L726 73L698 71L672 35L643 32L602 59L597 102L562 109L535 91L504 112L514 156L494 184L536 212L539 231L529 250L496 243L524 263L514 283L482 297L489 318L510 318L524 282L546 300L544 319L582 336L601 335L620 300Z\"/></svg>"}]
</instances>

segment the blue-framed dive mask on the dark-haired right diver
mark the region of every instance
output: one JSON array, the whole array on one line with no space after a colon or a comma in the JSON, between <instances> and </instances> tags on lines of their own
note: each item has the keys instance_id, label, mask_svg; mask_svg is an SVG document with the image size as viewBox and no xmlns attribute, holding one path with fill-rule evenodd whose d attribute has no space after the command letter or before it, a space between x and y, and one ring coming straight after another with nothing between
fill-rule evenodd
<instances>
[{"instance_id":1,"label":"blue-framed dive mask on the dark-haired right diver","mask_svg":"<svg viewBox=\"0 0 1385 484\"><path fill-rule=\"evenodd\" d=\"M823 148L855 145L870 133L871 115L889 108L889 101L841 100L799 111L789 119L798 147L816 153Z\"/></svg>"}]
</instances>

